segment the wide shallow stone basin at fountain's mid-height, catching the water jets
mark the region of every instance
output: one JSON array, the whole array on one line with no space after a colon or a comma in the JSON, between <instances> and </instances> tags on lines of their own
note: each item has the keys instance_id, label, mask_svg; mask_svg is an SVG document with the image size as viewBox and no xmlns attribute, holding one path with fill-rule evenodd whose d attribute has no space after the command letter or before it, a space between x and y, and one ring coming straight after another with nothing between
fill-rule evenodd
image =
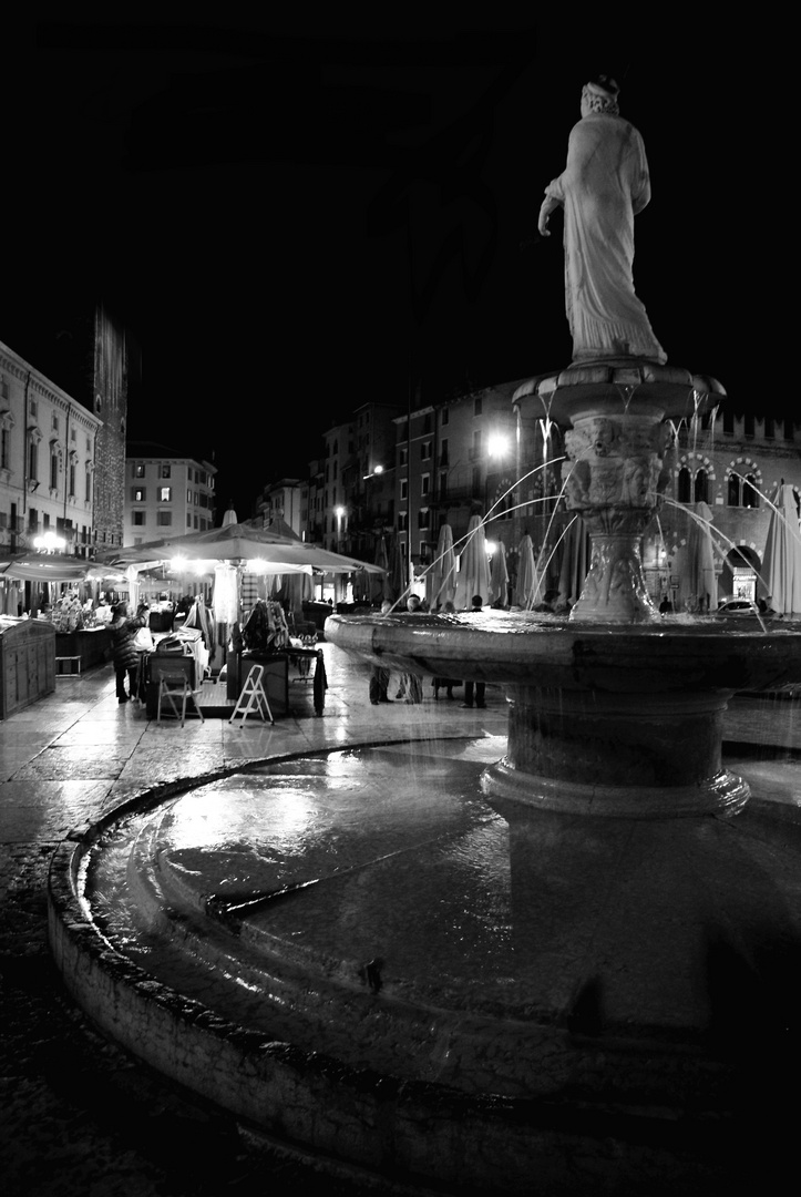
<instances>
[{"instance_id":1,"label":"wide shallow stone basin at fountain's mid-height, catching the water jets","mask_svg":"<svg viewBox=\"0 0 801 1197\"><path fill-rule=\"evenodd\" d=\"M332 615L326 639L374 664L502 685L734 693L801 682L797 625L763 632L741 624L582 625L505 612Z\"/></svg>"}]
</instances>

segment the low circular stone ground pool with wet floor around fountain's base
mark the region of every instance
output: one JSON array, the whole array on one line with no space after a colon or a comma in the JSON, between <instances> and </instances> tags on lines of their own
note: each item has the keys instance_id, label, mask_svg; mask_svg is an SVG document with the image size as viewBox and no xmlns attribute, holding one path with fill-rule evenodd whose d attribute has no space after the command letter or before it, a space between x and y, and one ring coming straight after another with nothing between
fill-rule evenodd
<instances>
[{"instance_id":1,"label":"low circular stone ground pool with wet floor around fountain's base","mask_svg":"<svg viewBox=\"0 0 801 1197\"><path fill-rule=\"evenodd\" d=\"M609 1150L631 1184L714 1169L732 1035L797 988L795 812L600 834L489 806L504 745L329 751L120 808L54 859L68 986L251 1130L393 1183L581 1191Z\"/></svg>"}]
</instances>

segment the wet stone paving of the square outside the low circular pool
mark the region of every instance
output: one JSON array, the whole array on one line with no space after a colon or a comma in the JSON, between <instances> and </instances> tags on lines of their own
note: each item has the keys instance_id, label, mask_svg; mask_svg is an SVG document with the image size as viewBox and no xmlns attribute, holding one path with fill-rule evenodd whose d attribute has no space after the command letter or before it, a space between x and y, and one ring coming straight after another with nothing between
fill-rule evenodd
<instances>
[{"instance_id":1,"label":"wet stone paving of the square outside the low circular pool","mask_svg":"<svg viewBox=\"0 0 801 1197\"><path fill-rule=\"evenodd\" d=\"M487 710L459 700L372 706L369 667L323 645L326 710L291 681L274 725L207 718L157 724L119 706L102 666L60 678L55 693L0 721L0 1178L5 1197L218 1197L265 1190L327 1197L366 1191L314 1161L254 1148L232 1118L169 1084L98 1034L66 994L47 941L47 876L57 844L157 785L249 761L413 735L505 729L500 691ZM394 679L393 679L394 681ZM390 691L392 692L392 691Z\"/></svg>"}]
</instances>

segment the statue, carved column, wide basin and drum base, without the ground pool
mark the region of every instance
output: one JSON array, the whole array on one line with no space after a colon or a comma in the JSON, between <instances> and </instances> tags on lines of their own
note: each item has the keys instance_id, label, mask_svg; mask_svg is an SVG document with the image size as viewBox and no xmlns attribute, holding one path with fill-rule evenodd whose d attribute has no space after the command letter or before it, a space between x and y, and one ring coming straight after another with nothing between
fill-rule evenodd
<instances>
[{"instance_id":1,"label":"statue, carved column, wide basin and drum base, without the ground pool","mask_svg":"<svg viewBox=\"0 0 801 1197\"><path fill-rule=\"evenodd\" d=\"M370 660L503 683L504 760L489 795L564 813L633 818L733 813L747 786L721 767L721 718L738 689L793 680L785 636L667 632L643 579L643 533L662 502L675 423L717 405L715 379L668 366L633 288L633 220L650 200L642 138L603 75L582 92L565 171L546 188L539 230L564 208L565 306L574 360L514 402L568 429L565 503L583 517L591 565L566 626L533 619L466 628L390 624L327 636ZM676 752L681 745L681 752Z\"/></svg>"}]
</instances>

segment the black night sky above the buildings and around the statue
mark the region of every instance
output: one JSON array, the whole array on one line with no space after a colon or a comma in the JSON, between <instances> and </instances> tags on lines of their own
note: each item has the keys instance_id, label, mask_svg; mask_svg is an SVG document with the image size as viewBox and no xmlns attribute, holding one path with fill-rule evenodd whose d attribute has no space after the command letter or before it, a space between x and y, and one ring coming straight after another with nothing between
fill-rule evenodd
<instances>
[{"instance_id":1,"label":"black night sky above the buildings and around the statue","mask_svg":"<svg viewBox=\"0 0 801 1197\"><path fill-rule=\"evenodd\" d=\"M4 38L0 340L69 389L102 294L141 353L129 435L213 454L222 509L409 381L569 363L536 213L596 71L645 140L635 279L669 361L797 406L789 28L47 7Z\"/></svg>"}]
</instances>

